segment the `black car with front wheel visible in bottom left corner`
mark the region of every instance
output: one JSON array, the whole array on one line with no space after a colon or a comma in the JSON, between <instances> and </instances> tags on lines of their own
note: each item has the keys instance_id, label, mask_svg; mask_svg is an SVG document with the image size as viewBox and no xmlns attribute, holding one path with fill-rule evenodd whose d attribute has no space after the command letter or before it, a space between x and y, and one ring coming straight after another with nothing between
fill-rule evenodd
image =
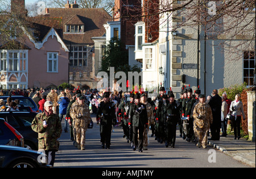
<instances>
[{"instance_id":1,"label":"black car with front wheel visible in bottom left corner","mask_svg":"<svg viewBox=\"0 0 256 179\"><path fill-rule=\"evenodd\" d=\"M44 152L0 145L0 168L49 168Z\"/></svg>"}]
</instances>

